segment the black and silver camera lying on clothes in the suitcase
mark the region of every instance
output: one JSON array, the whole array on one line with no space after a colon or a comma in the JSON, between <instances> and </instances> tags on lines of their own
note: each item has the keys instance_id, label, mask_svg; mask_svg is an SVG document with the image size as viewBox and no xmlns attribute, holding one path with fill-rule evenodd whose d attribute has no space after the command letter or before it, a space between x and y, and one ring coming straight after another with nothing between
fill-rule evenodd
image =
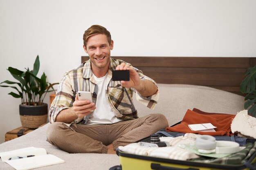
<instances>
[{"instance_id":1,"label":"black and silver camera lying on clothes in the suitcase","mask_svg":"<svg viewBox=\"0 0 256 170\"><path fill-rule=\"evenodd\" d=\"M150 139L147 142L140 142L140 146L146 147L166 147L170 146L168 142L160 141L159 135L157 133L151 134Z\"/></svg>"}]
</instances>

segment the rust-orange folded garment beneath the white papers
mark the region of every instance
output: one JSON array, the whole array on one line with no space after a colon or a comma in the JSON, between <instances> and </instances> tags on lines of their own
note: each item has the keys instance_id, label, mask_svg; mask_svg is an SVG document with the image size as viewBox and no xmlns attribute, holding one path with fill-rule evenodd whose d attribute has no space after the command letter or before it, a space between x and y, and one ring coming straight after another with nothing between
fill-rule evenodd
<instances>
[{"instance_id":1,"label":"rust-orange folded garment beneath the white papers","mask_svg":"<svg viewBox=\"0 0 256 170\"><path fill-rule=\"evenodd\" d=\"M187 110L184 118L180 124L177 124L173 127L167 127L165 130L167 132L181 132L181 133L195 133L200 135L211 135L211 136L232 136L234 135L231 132L231 121L236 115L229 114L202 114L196 113L192 110ZM200 132L194 131L189 128L189 124L206 124L211 123L216 132Z\"/></svg>"}]
</instances>

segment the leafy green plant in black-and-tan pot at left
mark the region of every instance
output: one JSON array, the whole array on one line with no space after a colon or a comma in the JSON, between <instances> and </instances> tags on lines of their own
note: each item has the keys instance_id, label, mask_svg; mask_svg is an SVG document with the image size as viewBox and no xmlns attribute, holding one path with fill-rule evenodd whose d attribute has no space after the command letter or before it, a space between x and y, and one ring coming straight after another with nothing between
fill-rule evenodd
<instances>
[{"instance_id":1,"label":"leafy green plant in black-and-tan pot at left","mask_svg":"<svg viewBox=\"0 0 256 170\"><path fill-rule=\"evenodd\" d=\"M37 55L33 70L25 68L25 71L20 71L17 68L8 67L7 70L18 82L5 80L0 83L1 87L11 87L18 92L10 92L8 94L15 98L21 98L19 106L20 121L22 126L26 128L38 128L46 123L48 106L46 103L43 103L43 100L47 92L54 90L52 86L58 84L48 83L45 73L40 78L37 77L39 67L40 61Z\"/></svg>"}]
</instances>

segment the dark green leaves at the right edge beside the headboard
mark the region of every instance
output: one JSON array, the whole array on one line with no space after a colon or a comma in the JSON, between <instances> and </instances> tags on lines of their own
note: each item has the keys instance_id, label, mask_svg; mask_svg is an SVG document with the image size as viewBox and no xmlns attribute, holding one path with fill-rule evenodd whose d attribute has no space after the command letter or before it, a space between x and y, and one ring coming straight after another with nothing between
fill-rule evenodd
<instances>
[{"instance_id":1,"label":"dark green leaves at the right edge beside the headboard","mask_svg":"<svg viewBox=\"0 0 256 170\"><path fill-rule=\"evenodd\" d=\"M248 68L245 76L240 84L240 91L246 94L244 108L249 115L256 117L256 65Z\"/></svg>"}]
</instances>

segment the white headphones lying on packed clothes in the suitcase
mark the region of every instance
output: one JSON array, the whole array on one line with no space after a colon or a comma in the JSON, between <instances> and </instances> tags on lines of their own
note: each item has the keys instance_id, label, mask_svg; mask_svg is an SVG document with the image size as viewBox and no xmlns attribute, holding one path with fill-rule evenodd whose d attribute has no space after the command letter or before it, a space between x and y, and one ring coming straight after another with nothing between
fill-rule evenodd
<instances>
[{"instance_id":1,"label":"white headphones lying on packed clothes in the suitcase","mask_svg":"<svg viewBox=\"0 0 256 170\"><path fill-rule=\"evenodd\" d=\"M239 144L233 141L216 141L215 137L202 135L195 139L195 146L198 152L217 154L231 154L239 151Z\"/></svg>"}]
</instances>

